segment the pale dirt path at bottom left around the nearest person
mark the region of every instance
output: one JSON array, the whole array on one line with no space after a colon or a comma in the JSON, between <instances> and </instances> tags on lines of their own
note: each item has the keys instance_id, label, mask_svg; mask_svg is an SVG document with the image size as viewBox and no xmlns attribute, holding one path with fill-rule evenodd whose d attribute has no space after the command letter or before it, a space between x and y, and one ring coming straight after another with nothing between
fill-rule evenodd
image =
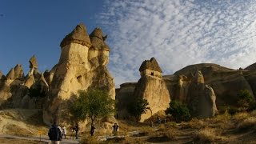
<instances>
[{"instance_id":1,"label":"pale dirt path at bottom left around the nearest person","mask_svg":"<svg viewBox=\"0 0 256 144\"><path fill-rule=\"evenodd\" d=\"M26 139L30 141L40 141L39 137L22 137L22 136L16 136L16 135L10 135L10 134L0 134L0 138L16 138L16 139ZM46 136L41 137L41 142L42 143L50 143L50 140ZM68 143L79 143L78 140L73 140L73 139L62 139L61 143L63 144L68 144Z\"/></svg>"}]
</instances>

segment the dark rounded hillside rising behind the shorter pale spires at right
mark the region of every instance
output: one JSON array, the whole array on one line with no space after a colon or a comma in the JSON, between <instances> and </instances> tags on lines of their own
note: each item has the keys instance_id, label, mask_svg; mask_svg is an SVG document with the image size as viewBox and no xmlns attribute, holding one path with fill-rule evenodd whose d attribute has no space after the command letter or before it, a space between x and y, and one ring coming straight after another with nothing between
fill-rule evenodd
<instances>
[{"instance_id":1,"label":"dark rounded hillside rising behind the shorter pale spires at right","mask_svg":"<svg viewBox=\"0 0 256 144\"><path fill-rule=\"evenodd\" d=\"M251 94L256 89L254 83L254 71L250 70L232 70L223 66L211 63L202 63L186 66L182 70L174 73L173 77L166 76L168 89L174 90L172 93L178 93L176 89L176 80L180 75L192 79L197 70L202 72L205 84L212 87L216 95L216 105L218 106L236 106L238 102L238 93L240 90L249 90ZM172 82L172 84L170 83ZM179 97L177 94L174 97Z\"/></svg>"}]
</instances>

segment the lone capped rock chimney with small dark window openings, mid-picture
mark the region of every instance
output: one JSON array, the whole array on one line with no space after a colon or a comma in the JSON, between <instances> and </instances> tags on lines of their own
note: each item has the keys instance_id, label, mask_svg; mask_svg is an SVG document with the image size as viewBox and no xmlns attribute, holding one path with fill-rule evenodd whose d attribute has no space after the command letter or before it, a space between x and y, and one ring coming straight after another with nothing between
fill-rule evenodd
<instances>
[{"instance_id":1,"label":"lone capped rock chimney with small dark window openings, mid-picture","mask_svg":"<svg viewBox=\"0 0 256 144\"><path fill-rule=\"evenodd\" d=\"M162 79L162 70L155 58L142 62L139 68L141 78L134 90L134 98L143 98L149 102L150 110L142 114L140 122L144 122L158 111L166 110L169 107L170 95L166 82Z\"/></svg>"}]
</instances>

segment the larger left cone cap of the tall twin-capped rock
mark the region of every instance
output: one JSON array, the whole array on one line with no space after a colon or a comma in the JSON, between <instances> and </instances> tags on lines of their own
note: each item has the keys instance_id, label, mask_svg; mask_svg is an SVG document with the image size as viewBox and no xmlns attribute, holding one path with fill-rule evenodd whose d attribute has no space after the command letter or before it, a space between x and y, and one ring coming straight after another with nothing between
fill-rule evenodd
<instances>
[{"instance_id":1,"label":"larger left cone cap of the tall twin-capped rock","mask_svg":"<svg viewBox=\"0 0 256 144\"><path fill-rule=\"evenodd\" d=\"M91 46L90 38L84 24L80 23L70 34L67 34L66 37L63 38L60 46L64 47L72 42L81 44L83 46Z\"/></svg>"}]
</instances>

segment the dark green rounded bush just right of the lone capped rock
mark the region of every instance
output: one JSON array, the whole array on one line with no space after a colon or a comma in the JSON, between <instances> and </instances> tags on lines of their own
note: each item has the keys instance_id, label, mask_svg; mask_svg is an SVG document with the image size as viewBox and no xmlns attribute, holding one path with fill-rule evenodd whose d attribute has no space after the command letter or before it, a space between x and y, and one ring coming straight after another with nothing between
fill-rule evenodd
<instances>
[{"instance_id":1,"label":"dark green rounded bush just right of the lone capped rock","mask_svg":"<svg viewBox=\"0 0 256 144\"><path fill-rule=\"evenodd\" d=\"M191 118L190 110L186 104L177 100L170 102L170 107L166 110L167 114L172 114L176 122L189 121Z\"/></svg>"}]
</instances>

